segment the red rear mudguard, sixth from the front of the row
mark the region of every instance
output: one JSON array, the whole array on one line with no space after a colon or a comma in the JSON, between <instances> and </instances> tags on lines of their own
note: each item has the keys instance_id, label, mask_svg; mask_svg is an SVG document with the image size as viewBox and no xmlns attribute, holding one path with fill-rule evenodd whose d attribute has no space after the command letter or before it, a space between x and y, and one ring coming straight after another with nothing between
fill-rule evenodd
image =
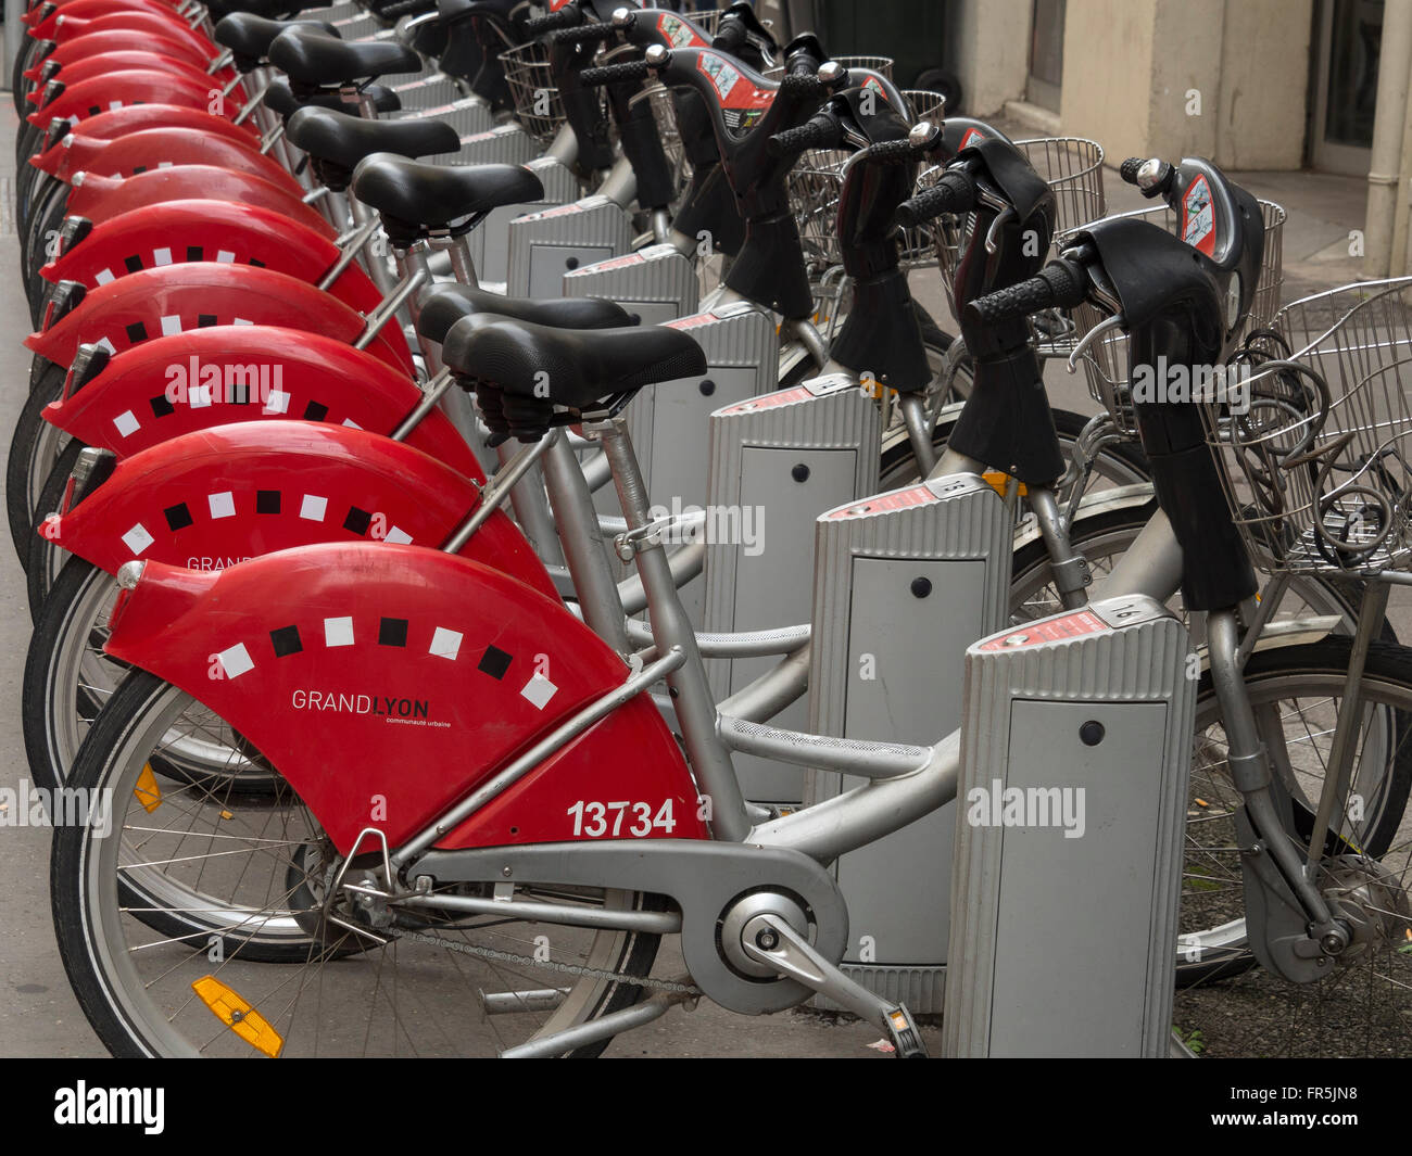
<instances>
[{"instance_id":1,"label":"red rear mudguard, sixth from the front of the row","mask_svg":"<svg viewBox=\"0 0 1412 1156\"><path fill-rule=\"evenodd\" d=\"M215 165L158 168L136 176L76 172L69 192L68 215L86 217L99 226L121 213L144 209L148 205L193 198L270 209L326 240L332 241L337 236L332 224L287 189L261 176Z\"/></svg>"}]
</instances>

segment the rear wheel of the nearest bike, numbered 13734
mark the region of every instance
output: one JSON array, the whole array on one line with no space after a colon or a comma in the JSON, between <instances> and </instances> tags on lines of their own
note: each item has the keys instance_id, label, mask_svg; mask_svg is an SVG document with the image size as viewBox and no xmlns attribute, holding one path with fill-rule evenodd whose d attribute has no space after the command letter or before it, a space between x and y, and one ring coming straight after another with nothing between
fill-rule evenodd
<instances>
[{"instance_id":1,"label":"rear wheel of the nearest bike, numbered 13734","mask_svg":"<svg viewBox=\"0 0 1412 1156\"><path fill-rule=\"evenodd\" d=\"M377 944L325 919L340 861L291 789L243 800L154 773L201 710L130 675L71 779L109 800L106 820L55 826L59 954L113 1054L494 1056L641 998L631 980L651 970L657 934L425 913L394 916ZM620 891L517 885L514 898L661 909ZM285 961L261 961L251 947L275 939Z\"/></svg>"}]
</instances>

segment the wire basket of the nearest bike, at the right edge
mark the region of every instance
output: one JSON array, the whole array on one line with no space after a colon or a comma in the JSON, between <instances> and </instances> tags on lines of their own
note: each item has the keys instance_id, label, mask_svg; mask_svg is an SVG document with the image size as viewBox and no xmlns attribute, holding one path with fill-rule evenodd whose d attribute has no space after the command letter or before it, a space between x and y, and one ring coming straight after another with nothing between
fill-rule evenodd
<instances>
[{"instance_id":1,"label":"wire basket of the nearest bike, at the right edge","mask_svg":"<svg viewBox=\"0 0 1412 1156\"><path fill-rule=\"evenodd\" d=\"M1296 301L1243 353L1206 423L1255 565L1412 570L1412 278Z\"/></svg>"}]
</instances>

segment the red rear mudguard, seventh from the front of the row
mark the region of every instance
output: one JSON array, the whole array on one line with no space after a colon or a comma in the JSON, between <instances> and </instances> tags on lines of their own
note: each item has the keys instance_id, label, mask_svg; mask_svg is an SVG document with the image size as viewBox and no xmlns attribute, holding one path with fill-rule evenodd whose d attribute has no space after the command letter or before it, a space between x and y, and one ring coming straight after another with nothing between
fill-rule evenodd
<instances>
[{"instance_id":1,"label":"red rear mudguard, seventh from the front of the row","mask_svg":"<svg viewBox=\"0 0 1412 1156\"><path fill-rule=\"evenodd\" d=\"M79 172L134 176L164 165L174 168L176 165L216 165L261 176L297 196L304 195L299 182L278 162L263 157L251 140L206 131L210 124L227 121L206 113L196 113L193 109L186 112L201 117L203 123L179 127L144 127L112 138L69 133L42 158L37 158L35 168L44 169L59 181L71 181ZM72 141L72 144L65 144L65 141Z\"/></svg>"}]
</instances>

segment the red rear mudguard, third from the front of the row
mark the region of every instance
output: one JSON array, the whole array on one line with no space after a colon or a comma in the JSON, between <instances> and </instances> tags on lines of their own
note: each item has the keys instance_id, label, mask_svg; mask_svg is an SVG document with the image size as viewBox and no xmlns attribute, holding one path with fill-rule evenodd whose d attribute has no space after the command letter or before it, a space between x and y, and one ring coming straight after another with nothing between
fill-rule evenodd
<instances>
[{"instance_id":1,"label":"red rear mudguard, third from the front of the row","mask_svg":"<svg viewBox=\"0 0 1412 1156\"><path fill-rule=\"evenodd\" d=\"M217 371L219 388L213 384ZM257 392L256 404L232 404L244 397L240 385ZM188 404L191 387L201 390L198 401L210 397L213 404ZM305 418L391 433L419 398L405 374L336 337L217 325L123 350L82 388L51 404L44 418L83 445L123 459L232 422ZM484 480L476 456L441 409L418 422L407 440L460 476Z\"/></svg>"}]
</instances>

